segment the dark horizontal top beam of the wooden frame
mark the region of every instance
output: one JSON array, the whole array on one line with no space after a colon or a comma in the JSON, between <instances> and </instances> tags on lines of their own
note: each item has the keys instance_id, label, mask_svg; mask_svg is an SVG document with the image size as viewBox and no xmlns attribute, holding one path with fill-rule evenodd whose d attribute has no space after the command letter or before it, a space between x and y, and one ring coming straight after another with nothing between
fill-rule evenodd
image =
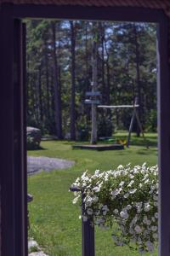
<instances>
[{"instance_id":1,"label":"dark horizontal top beam of the wooden frame","mask_svg":"<svg viewBox=\"0 0 170 256\"><path fill-rule=\"evenodd\" d=\"M14 16L20 18L52 18L64 20L115 20L158 22L162 10L135 7L84 7L46 4L18 4L12 7Z\"/></svg>"}]
</instances>

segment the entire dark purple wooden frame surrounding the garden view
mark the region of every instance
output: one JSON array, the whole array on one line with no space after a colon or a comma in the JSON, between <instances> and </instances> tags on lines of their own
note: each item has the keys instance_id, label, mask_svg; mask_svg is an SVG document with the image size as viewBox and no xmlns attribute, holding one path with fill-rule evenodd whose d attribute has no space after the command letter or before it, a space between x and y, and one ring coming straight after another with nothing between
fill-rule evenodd
<instances>
[{"instance_id":1,"label":"entire dark purple wooden frame surrounding the garden view","mask_svg":"<svg viewBox=\"0 0 170 256\"><path fill-rule=\"evenodd\" d=\"M156 22L158 27L158 75L157 75L157 102L159 126L159 169L160 171L160 198L159 198L159 230L160 256L170 256L170 78L168 60L168 23L169 18L163 10L132 7L82 7L82 6L55 6L32 4L2 4L0 9L0 119L1 119L1 148L3 148L1 170L1 205L2 205L2 255L27 256L16 254L14 236L22 233L24 239L20 247L26 247L26 175L24 185L18 184L14 178L14 22L24 18L50 18L61 20L117 20ZM18 63L20 65L20 63ZM7 75L8 74L8 75ZM3 120L3 122L2 122ZM19 131L20 132L20 131ZM20 153L20 157L25 156ZM21 177L22 170L19 170ZM24 189L24 190L23 190ZM25 200L14 204L17 196ZM22 221L16 220L15 212L20 212ZM20 216L20 215L19 215ZM17 225L17 229L16 229ZM18 230L18 231L16 231ZM21 252L20 249L18 252Z\"/></svg>"}]
</instances>

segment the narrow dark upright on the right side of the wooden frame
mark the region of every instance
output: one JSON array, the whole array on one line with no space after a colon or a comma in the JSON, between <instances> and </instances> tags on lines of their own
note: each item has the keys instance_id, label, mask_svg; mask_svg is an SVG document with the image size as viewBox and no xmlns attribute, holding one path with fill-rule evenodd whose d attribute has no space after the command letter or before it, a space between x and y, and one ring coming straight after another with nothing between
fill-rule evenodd
<instances>
[{"instance_id":1,"label":"narrow dark upright on the right side of the wooden frame","mask_svg":"<svg viewBox=\"0 0 170 256\"><path fill-rule=\"evenodd\" d=\"M167 17L157 32L157 105L159 131L159 255L170 255L170 67L168 65Z\"/></svg>"}]
</instances>

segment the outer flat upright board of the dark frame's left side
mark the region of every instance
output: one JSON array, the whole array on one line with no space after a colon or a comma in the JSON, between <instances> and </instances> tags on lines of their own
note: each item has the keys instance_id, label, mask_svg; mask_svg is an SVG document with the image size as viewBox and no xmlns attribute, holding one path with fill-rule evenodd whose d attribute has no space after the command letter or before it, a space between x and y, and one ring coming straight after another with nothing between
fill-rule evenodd
<instances>
[{"instance_id":1,"label":"outer flat upright board of the dark frame's left side","mask_svg":"<svg viewBox=\"0 0 170 256\"><path fill-rule=\"evenodd\" d=\"M2 255L14 256L14 95L13 47L14 26L8 9L0 16L0 120L1 120L1 207Z\"/></svg>"}]
</instances>

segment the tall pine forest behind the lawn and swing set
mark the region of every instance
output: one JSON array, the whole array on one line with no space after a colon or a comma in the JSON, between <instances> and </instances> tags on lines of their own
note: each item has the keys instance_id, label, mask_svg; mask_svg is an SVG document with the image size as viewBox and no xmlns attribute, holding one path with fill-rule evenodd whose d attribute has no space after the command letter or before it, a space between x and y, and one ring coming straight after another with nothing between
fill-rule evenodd
<instances>
[{"instance_id":1,"label":"tall pine forest behind the lawn and swing set","mask_svg":"<svg viewBox=\"0 0 170 256\"><path fill-rule=\"evenodd\" d=\"M72 140L91 131L93 50L102 105L139 102L145 131L156 131L156 26L149 23L26 20L27 125ZM98 109L98 136L127 130L129 109ZM137 126L134 131L139 133Z\"/></svg>"}]
</instances>

